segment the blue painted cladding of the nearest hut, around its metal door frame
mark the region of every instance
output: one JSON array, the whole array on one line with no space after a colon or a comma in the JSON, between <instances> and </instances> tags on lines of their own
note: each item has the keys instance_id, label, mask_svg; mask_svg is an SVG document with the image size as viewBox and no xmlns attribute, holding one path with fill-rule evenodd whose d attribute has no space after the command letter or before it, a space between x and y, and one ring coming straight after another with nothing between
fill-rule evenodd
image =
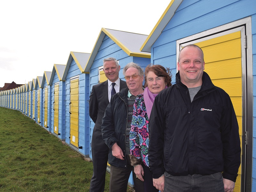
<instances>
[{"instance_id":1,"label":"blue painted cladding of the nearest hut, around its metal door frame","mask_svg":"<svg viewBox=\"0 0 256 192\"><path fill-rule=\"evenodd\" d=\"M252 17L253 53L253 164L252 191L256 191L256 1L183 0L172 19L151 47L151 62L176 73L176 41L221 25ZM178 53L177 53L178 54ZM175 76L172 82L175 82Z\"/></svg>"}]
</instances>

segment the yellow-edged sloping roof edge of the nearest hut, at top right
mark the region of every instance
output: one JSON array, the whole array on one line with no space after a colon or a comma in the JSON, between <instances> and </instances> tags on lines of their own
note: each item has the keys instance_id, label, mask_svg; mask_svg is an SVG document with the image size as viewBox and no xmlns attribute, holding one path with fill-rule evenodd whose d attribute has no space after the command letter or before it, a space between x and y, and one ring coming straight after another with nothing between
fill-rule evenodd
<instances>
[{"instance_id":1,"label":"yellow-edged sloping roof edge of the nearest hut, at top right","mask_svg":"<svg viewBox=\"0 0 256 192\"><path fill-rule=\"evenodd\" d=\"M160 19L157 21L156 26L153 28L146 41L140 47L140 51L151 52L151 46L155 43L156 39L160 36L165 26L171 20L174 12L179 7L181 2L182 0L172 0L170 2Z\"/></svg>"}]
</instances>

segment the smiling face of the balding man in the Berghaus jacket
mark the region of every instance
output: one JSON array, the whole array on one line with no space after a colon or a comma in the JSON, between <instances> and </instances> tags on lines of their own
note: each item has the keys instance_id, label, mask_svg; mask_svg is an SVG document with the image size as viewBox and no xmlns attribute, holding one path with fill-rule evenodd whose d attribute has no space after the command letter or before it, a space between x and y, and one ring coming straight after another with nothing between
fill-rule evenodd
<instances>
[{"instance_id":1,"label":"smiling face of the balding man in the Berghaus jacket","mask_svg":"<svg viewBox=\"0 0 256 192\"><path fill-rule=\"evenodd\" d=\"M203 53L198 47L188 46L180 52L180 61L178 62L180 81L188 88L202 85L203 57Z\"/></svg>"}]
</instances>

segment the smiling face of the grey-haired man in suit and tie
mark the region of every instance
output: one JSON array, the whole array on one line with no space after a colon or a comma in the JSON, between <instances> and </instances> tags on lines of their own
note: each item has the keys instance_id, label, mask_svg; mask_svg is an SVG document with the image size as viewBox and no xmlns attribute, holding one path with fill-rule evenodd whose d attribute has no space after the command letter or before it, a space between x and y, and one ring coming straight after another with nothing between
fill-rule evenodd
<instances>
[{"instance_id":1,"label":"smiling face of the grey-haired man in suit and tie","mask_svg":"<svg viewBox=\"0 0 256 192\"><path fill-rule=\"evenodd\" d=\"M113 60L105 61L103 64L103 71L109 81L115 82L119 77L120 65L116 66L116 62Z\"/></svg>"}]
</instances>

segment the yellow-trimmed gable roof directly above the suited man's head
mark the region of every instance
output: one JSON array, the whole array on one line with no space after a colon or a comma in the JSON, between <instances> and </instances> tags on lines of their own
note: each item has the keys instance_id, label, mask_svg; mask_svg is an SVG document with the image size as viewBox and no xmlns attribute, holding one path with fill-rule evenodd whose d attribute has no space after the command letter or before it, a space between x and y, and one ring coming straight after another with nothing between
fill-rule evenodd
<instances>
[{"instance_id":1,"label":"yellow-trimmed gable roof directly above the suited man's head","mask_svg":"<svg viewBox=\"0 0 256 192\"><path fill-rule=\"evenodd\" d=\"M102 41L105 35L107 35L110 39L112 39L129 56L144 57L144 58L151 57L150 53L140 51L141 45L143 44L143 42L145 42L145 40L148 37L147 35L101 28L100 34L93 47L90 58L84 68L84 72L90 72L92 63L99 51L100 45L102 44Z\"/></svg>"}]
</instances>

